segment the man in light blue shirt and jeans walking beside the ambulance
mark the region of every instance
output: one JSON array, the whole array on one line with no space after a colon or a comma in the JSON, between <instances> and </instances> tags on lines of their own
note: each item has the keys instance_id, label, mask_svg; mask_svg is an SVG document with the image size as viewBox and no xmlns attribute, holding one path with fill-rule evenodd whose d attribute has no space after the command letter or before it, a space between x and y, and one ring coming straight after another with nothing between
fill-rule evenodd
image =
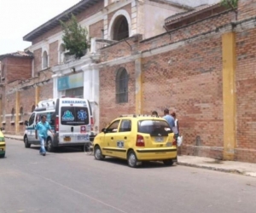
<instances>
[{"instance_id":1,"label":"man in light blue shirt and jeans walking beside the ambulance","mask_svg":"<svg viewBox=\"0 0 256 213\"><path fill-rule=\"evenodd\" d=\"M41 116L41 121L38 122L35 129L36 129L36 139L38 139L38 136L39 136L40 145L41 145L39 153L45 156L46 151L44 148L44 144L48 137L48 133L47 133L48 130L52 133L52 135L55 135L54 132L51 130L49 123L46 121L46 115Z\"/></svg>"}]
</instances>

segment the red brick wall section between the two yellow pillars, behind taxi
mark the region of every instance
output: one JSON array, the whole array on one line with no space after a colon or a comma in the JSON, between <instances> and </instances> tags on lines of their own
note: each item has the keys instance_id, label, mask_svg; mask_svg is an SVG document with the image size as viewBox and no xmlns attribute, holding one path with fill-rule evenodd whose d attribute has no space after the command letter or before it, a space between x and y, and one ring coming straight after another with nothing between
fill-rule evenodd
<instances>
[{"instance_id":1,"label":"red brick wall section between the two yellow pillars, behind taxi","mask_svg":"<svg viewBox=\"0 0 256 213\"><path fill-rule=\"evenodd\" d=\"M145 113L157 110L163 116L168 108L177 112L186 145L223 147L221 37L205 37L144 58L143 72ZM193 154L195 148L183 153ZM201 150L201 156L207 154Z\"/></svg>"}]
</instances>

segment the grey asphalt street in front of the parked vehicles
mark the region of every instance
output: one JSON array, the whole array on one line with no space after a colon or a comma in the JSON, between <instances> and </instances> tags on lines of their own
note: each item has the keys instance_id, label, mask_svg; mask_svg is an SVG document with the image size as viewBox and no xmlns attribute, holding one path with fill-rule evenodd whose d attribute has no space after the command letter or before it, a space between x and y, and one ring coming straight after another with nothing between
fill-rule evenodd
<instances>
[{"instance_id":1,"label":"grey asphalt street in front of the parked vehicles","mask_svg":"<svg viewBox=\"0 0 256 213\"><path fill-rule=\"evenodd\" d=\"M255 212L256 179L161 163L131 169L79 149L39 155L7 139L0 158L0 212Z\"/></svg>"}]
</instances>

